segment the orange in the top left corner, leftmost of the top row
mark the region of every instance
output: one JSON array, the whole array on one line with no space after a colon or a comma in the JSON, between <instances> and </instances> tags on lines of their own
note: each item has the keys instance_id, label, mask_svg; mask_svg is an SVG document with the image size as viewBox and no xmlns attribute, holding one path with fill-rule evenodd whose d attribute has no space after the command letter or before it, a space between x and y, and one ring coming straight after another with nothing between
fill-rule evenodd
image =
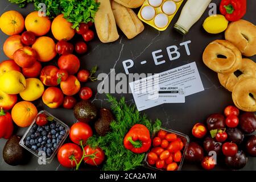
<instances>
[{"instance_id":1,"label":"orange in the top left corner, leftmost of the top row","mask_svg":"<svg viewBox=\"0 0 256 182\"><path fill-rule=\"evenodd\" d=\"M24 29L24 18L18 11L6 11L0 19L1 30L7 35L16 35Z\"/></svg>"}]
</instances>

